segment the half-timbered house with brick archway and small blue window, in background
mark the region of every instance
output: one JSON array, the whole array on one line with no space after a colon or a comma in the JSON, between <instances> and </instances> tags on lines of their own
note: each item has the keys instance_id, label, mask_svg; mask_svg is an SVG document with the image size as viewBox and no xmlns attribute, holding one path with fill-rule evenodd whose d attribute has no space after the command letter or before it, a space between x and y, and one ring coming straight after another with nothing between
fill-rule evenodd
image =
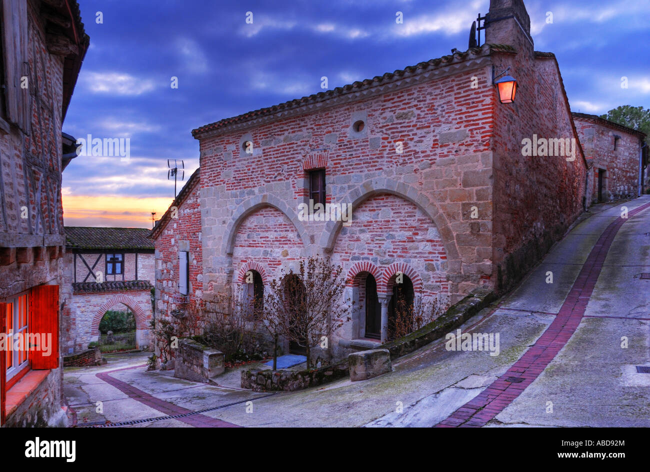
<instances>
[{"instance_id":1,"label":"half-timbered house with brick archway and small blue window, in background","mask_svg":"<svg viewBox=\"0 0 650 472\"><path fill-rule=\"evenodd\" d=\"M64 280L71 290L63 312L61 349L73 353L98 340L107 310L127 306L136 321L136 347L149 345L154 247L148 229L65 227Z\"/></svg>"}]
</instances>

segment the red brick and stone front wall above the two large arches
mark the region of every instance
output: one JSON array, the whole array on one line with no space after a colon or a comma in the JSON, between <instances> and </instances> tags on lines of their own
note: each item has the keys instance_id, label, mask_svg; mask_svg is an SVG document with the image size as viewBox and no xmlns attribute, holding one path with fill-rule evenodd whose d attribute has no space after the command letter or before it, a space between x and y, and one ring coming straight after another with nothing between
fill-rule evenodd
<instances>
[{"instance_id":1,"label":"red brick and stone front wall above the two large arches","mask_svg":"<svg viewBox=\"0 0 650 472\"><path fill-rule=\"evenodd\" d=\"M483 84L478 89L470 87L475 76ZM213 291L213 286L217 291L233 283L233 274L239 273L242 260L257 260L252 253L248 257L240 253L231 261L221 262L222 247L229 238L225 229L233 210L245 205L254 195L270 194L286 205L290 215L297 214L298 204L305 201L306 195L304 161L311 149L321 148L327 149L328 201L352 203L352 194L348 192L365 192L367 186L362 184L372 179L402 184L396 192L402 193L402 200L403 194L412 189L413 199L422 195L432 202L440 223L437 230L441 244L445 251L451 250L456 255L450 292L460 298L471 288L485 283L486 279L482 279L485 267L476 266L476 253L459 260L458 246L473 234L471 223L478 223L469 219L470 206L491 201L489 181L482 180L484 169L489 172L491 165L491 91L485 86L488 76L489 68L478 68L350 105L201 139L204 228L210 228L203 242L205 276L213 283L206 286L207 292ZM363 138L350 132L353 114L359 111L367 114L367 134ZM254 151L253 155L242 157L239 142L244 132L252 134ZM402 154L396 152L396 142L402 143ZM391 210L385 208L385 211ZM398 219L400 211L385 219ZM484 214L481 221L490 218ZM430 217L429 221L434 224ZM490 229L484 223L482 229L489 247ZM264 234L273 238L268 233L274 231L274 226L269 225ZM304 222L305 234L301 236L311 243L303 249L303 255L322 250L318 249L322 248L319 242L326 231L326 223ZM296 228L294 232L300 231ZM369 239L363 237L364 241ZM339 244L341 236L333 242L335 251ZM386 265L400 262L404 253L391 253L389 258L391 261L386 261ZM478 263L482 262L484 259L480 258Z\"/></svg>"}]
</instances>

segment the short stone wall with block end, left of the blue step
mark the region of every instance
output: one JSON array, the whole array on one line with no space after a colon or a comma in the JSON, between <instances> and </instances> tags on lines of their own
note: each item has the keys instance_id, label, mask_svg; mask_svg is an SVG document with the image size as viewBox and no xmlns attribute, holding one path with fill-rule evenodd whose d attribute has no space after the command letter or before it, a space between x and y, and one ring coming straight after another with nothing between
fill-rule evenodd
<instances>
[{"instance_id":1,"label":"short stone wall with block end, left of the blue step","mask_svg":"<svg viewBox=\"0 0 650 472\"><path fill-rule=\"evenodd\" d=\"M226 370L224 353L190 339L179 340L174 367L174 377L194 382L207 382Z\"/></svg>"}]
</instances>

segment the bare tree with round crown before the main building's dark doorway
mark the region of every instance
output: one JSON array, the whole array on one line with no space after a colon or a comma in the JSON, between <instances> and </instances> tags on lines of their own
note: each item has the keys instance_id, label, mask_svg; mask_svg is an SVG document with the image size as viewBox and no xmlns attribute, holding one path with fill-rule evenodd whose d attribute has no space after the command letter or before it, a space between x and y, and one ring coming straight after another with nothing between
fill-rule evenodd
<instances>
[{"instance_id":1,"label":"bare tree with round crown before the main building's dark doorway","mask_svg":"<svg viewBox=\"0 0 650 472\"><path fill-rule=\"evenodd\" d=\"M333 266L329 259L312 256L300 262L296 273L282 271L266 292L267 329L304 347L307 368L311 367L311 350L323 338L329 342L331 334L350 320L354 302L343 300L348 281L342 273L343 267Z\"/></svg>"}]
</instances>

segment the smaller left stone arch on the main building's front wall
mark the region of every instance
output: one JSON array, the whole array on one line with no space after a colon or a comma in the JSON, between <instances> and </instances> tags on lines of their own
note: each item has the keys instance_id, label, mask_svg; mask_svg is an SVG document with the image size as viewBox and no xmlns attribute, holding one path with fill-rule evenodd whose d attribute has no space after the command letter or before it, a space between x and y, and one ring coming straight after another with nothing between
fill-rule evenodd
<instances>
[{"instance_id":1,"label":"smaller left stone arch on the main building's front wall","mask_svg":"<svg viewBox=\"0 0 650 472\"><path fill-rule=\"evenodd\" d=\"M231 217L229 223L226 226L226 230L224 231L224 242L222 245L222 253L224 255L233 255L233 251L235 250L235 238L237 238L237 230L239 230L239 227L244 219L246 219L248 215L255 212L255 210L263 208L264 206L272 206L284 214L284 216L289 218L289 221L291 221L294 228L298 232L298 236L300 237L303 246L309 246L309 235L307 234L307 230L302 224L302 221L298 219L296 212L292 211L289 206L287 206L287 204L278 197L265 193L264 195L255 195L254 197L250 197L250 199L240 203L240 205L235 209L235 213Z\"/></svg>"}]
</instances>

